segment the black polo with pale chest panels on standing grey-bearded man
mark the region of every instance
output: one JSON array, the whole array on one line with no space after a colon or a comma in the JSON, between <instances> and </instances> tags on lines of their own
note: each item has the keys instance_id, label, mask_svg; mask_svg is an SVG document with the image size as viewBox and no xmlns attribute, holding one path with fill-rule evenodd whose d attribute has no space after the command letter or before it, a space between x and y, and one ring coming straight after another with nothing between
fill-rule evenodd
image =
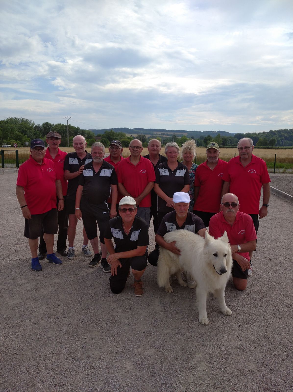
<instances>
[{"instance_id":1,"label":"black polo with pale chest panels on standing grey-bearded man","mask_svg":"<svg viewBox=\"0 0 293 392\"><path fill-rule=\"evenodd\" d=\"M85 200L92 204L102 204L109 199L110 185L118 185L117 174L114 166L104 160L96 173L92 162L85 165L79 176L79 185L83 186L82 197Z\"/></svg>"}]
</instances>

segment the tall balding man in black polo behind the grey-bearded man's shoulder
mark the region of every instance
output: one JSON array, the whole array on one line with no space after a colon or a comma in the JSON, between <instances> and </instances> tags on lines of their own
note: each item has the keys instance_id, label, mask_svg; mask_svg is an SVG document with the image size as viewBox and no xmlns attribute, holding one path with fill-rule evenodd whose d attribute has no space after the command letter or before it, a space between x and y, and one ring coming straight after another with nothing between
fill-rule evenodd
<instances>
[{"instance_id":1,"label":"tall balding man in black polo behind the grey-bearded man's shoulder","mask_svg":"<svg viewBox=\"0 0 293 392\"><path fill-rule=\"evenodd\" d=\"M69 214L69 223L67 237L69 242L68 254L69 259L74 259L74 238L76 232L77 218L75 216L75 196L78 187L79 176L83 172L84 165L92 161L92 156L86 151L87 142L81 135L74 136L72 140L75 152L69 152L65 156L64 161L64 178L68 180L67 196L66 196L66 212ZM87 246L89 239L85 229L83 228L83 247L82 251L85 256L91 256L92 252Z\"/></svg>"}]
</instances>

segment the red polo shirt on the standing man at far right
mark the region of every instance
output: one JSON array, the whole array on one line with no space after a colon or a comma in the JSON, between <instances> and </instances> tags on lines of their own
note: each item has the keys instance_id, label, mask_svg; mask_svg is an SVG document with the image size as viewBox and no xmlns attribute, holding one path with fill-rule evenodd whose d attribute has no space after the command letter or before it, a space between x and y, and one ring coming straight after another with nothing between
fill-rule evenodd
<instances>
[{"instance_id":1,"label":"red polo shirt on the standing man at far right","mask_svg":"<svg viewBox=\"0 0 293 392\"><path fill-rule=\"evenodd\" d=\"M222 179L230 182L229 192L238 197L240 211L259 214L260 189L271 182L264 160L252 155L251 162L243 167L240 156L236 156L228 162Z\"/></svg>"}]
</instances>

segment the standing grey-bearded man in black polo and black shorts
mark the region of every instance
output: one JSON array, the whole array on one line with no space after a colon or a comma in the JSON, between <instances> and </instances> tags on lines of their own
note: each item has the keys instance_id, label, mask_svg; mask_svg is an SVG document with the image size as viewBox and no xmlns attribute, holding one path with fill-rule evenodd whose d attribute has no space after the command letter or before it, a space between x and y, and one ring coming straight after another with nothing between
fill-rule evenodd
<instances>
[{"instance_id":1,"label":"standing grey-bearded man in black polo and black shorts","mask_svg":"<svg viewBox=\"0 0 293 392\"><path fill-rule=\"evenodd\" d=\"M76 191L75 215L83 220L83 226L94 250L94 258L90 261L89 267L96 267L101 260L99 254L99 239L101 241L102 260L100 267L104 272L110 272L107 263L107 248L104 243L104 230L109 221L109 207L107 200L112 195L112 206L110 218L117 215L117 175L110 163L105 162L105 147L100 142L92 145L92 162L85 165L83 173L79 178L79 185ZM97 224L99 226L99 238Z\"/></svg>"}]
</instances>

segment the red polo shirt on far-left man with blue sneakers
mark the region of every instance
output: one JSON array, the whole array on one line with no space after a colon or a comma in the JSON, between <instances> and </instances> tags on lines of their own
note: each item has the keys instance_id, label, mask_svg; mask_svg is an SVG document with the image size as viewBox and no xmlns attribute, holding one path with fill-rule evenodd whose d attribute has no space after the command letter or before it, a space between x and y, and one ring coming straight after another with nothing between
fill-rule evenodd
<instances>
[{"instance_id":1,"label":"red polo shirt on far-left man with blue sneakers","mask_svg":"<svg viewBox=\"0 0 293 392\"><path fill-rule=\"evenodd\" d=\"M40 165L32 156L18 170L16 185L24 187L24 197L31 214L43 214L56 208L58 179L54 162L44 158Z\"/></svg>"}]
</instances>

